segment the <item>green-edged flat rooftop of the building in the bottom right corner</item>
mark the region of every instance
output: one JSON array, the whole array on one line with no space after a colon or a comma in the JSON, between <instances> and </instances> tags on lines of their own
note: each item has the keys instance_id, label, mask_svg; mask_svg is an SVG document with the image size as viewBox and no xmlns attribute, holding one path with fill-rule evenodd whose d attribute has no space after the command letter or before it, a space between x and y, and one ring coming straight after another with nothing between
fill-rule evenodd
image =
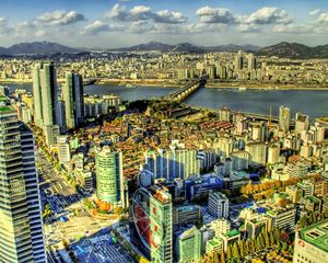
<instances>
[{"instance_id":1,"label":"green-edged flat rooftop of the building in the bottom right corner","mask_svg":"<svg viewBox=\"0 0 328 263\"><path fill-rule=\"evenodd\" d=\"M300 230L300 239L328 253L328 219Z\"/></svg>"}]
</instances>

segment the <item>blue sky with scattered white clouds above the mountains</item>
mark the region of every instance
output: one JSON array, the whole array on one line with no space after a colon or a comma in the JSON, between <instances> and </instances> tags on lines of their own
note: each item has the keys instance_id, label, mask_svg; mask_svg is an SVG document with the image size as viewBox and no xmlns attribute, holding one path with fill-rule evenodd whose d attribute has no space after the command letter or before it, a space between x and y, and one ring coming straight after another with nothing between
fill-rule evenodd
<instances>
[{"instance_id":1,"label":"blue sky with scattered white clouds above the mountains","mask_svg":"<svg viewBox=\"0 0 328 263\"><path fill-rule=\"evenodd\" d=\"M327 0L0 0L0 46L328 44Z\"/></svg>"}]
</instances>

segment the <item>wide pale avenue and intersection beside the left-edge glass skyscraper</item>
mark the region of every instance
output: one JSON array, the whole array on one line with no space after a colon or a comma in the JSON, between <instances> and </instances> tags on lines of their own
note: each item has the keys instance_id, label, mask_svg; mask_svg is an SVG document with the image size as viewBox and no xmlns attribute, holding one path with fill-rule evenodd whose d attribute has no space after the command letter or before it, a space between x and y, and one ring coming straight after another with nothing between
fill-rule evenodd
<instances>
[{"instance_id":1,"label":"wide pale avenue and intersection beside the left-edge glass skyscraper","mask_svg":"<svg viewBox=\"0 0 328 263\"><path fill-rule=\"evenodd\" d=\"M36 152L36 160L40 176L42 202L44 205L48 203L54 211L54 219L44 224L46 244L56 245L62 239L72 243L78 237L97 233L101 229L117 222L91 217L84 208L83 196L75 192L42 151Z\"/></svg>"}]
</instances>

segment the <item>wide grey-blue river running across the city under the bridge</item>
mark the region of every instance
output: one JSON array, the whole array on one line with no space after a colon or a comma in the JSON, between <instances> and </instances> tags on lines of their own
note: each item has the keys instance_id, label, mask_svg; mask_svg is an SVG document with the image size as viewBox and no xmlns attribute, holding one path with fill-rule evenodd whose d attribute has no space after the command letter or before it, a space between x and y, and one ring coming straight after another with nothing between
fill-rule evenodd
<instances>
[{"instance_id":1,"label":"wide grey-blue river running across the city under the bridge","mask_svg":"<svg viewBox=\"0 0 328 263\"><path fill-rule=\"evenodd\" d=\"M8 84L12 90L15 88L32 90L31 83ZM133 101L144 98L163 96L174 91L175 88L138 87L128 89L124 85L87 85L84 93L92 95L116 94L122 100ZM284 105L292 110L308 114L312 118L328 115L328 91L319 90L246 90L237 89L200 89L189 96L185 103L203 107L223 107L233 110L278 115L279 106Z\"/></svg>"}]
</instances>

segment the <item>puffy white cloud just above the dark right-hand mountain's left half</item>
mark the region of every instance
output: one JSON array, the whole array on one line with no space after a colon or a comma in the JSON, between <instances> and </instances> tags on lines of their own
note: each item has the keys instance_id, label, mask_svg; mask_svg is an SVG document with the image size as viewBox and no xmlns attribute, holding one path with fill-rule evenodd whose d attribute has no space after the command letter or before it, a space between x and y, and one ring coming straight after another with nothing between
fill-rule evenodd
<instances>
[{"instance_id":1,"label":"puffy white cloud just above the dark right-hand mountain's left half","mask_svg":"<svg viewBox=\"0 0 328 263\"><path fill-rule=\"evenodd\" d=\"M256 12L245 18L244 23L246 24L289 24L292 20L285 10L278 8L263 7Z\"/></svg>"}]
</instances>

